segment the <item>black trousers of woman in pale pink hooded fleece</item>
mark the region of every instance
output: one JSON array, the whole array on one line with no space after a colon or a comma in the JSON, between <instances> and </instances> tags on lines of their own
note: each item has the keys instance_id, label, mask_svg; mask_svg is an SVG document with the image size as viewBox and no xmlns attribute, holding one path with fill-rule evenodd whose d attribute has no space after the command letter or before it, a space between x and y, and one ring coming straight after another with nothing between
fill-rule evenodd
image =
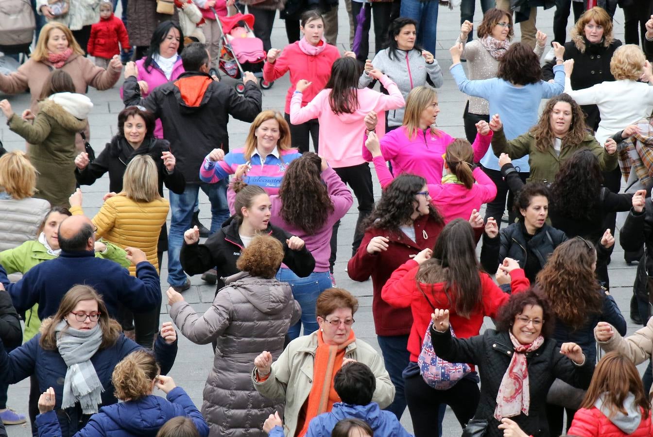
<instances>
[{"instance_id":1,"label":"black trousers of woman in pale pink hooded fleece","mask_svg":"<svg viewBox=\"0 0 653 437\"><path fill-rule=\"evenodd\" d=\"M372 172L370 172L370 164L367 162L363 162L357 166L334 168L334 170L338 173L340 179L351 187L358 202L358 219L356 220L356 229L354 230L354 241L351 243L351 256L354 256L365 233L360 228L360 224L370 215L374 207ZM333 265L336 262L336 252L338 252L338 228L340 228L340 220L333 225L333 233L331 234L331 256L328 260L331 271L333 271Z\"/></svg>"}]
</instances>

